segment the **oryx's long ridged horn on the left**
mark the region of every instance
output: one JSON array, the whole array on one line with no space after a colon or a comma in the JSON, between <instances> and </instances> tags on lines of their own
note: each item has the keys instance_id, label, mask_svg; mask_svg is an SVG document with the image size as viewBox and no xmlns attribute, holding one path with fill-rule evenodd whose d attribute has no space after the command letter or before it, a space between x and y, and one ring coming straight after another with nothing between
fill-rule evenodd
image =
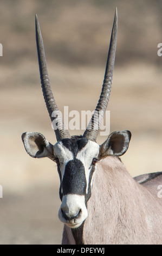
<instances>
[{"instance_id":1,"label":"oryx's long ridged horn on the left","mask_svg":"<svg viewBox=\"0 0 162 256\"><path fill-rule=\"evenodd\" d=\"M53 92L51 90L50 81L48 77L46 56L44 53L43 39L41 35L41 29L38 22L38 17L35 15L35 27L36 27L36 45L37 45L37 54L38 54L38 63L40 67L40 78L42 84L42 91L44 96L44 101L48 109L48 113L51 119L51 122L55 120L55 130L56 139L60 141L64 138L70 138L68 130L65 129L62 117L60 115L59 109L57 108Z\"/></svg>"}]
</instances>

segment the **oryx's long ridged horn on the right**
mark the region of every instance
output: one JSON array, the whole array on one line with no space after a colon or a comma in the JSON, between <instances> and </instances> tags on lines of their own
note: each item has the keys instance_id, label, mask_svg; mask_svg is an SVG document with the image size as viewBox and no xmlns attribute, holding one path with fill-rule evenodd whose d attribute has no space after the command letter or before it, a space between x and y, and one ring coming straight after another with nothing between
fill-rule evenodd
<instances>
[{"instance_id":1,"label":"oryx's long ridged horn on the right","mask_svg":"<svg viewBox=\"0 0 162 256\"><path fill-rule=\"evenodd\" d=\"M118 13L117 8L114 16L114 23L111 35L111 41L109 45L107 64L105 70L105 77L103 80L102 92L98 105L95 108L95 112L90 120L86 131L83 134L83 137L90 139L91 141L96 141L96 138L99 133L100 125L103 120L103 115L105 114L109 95L111 93L113 70L114 70L114 61L115 61L115 52L116 52L116 42L117 42L117 33L118 33Z\"/></svg>"}]
</instances>

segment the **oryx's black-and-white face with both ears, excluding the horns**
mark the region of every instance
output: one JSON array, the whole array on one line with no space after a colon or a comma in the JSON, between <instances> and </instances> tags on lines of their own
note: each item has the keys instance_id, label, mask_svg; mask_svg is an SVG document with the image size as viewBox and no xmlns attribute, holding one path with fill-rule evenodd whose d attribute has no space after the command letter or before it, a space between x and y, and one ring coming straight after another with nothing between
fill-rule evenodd
<instances>
[{"instance_id":1,"label":"oryx's black-and-white face with both ears, excluding the horns","mask_svg":"<svg viewBox=\"0 0 162 256\"><path fill-rule=\"evenodd\" d=\"M70 228L79 227L88 216L87 202L91 196L93 174L98 161L108 155L121 156L129 145L129 131L113 132L102 145L82 136L61 139L55 145L41 133L22 135L27 153L32 157L49 157L57 163L60 176L59 218Z\"/></svg>"}]
</instances>

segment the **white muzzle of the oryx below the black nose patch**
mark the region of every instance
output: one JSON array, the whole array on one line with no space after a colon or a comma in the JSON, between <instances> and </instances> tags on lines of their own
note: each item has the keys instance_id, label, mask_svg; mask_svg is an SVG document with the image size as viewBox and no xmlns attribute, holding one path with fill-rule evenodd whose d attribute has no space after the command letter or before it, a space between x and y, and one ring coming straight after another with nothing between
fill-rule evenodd
<instances>
[{"instance_id":1,"label":"white muzzle of the oryx below the black nose patch","mask_svg":"<svg viewBox=\"0 0 162 256\"><path fill-rule=\"evenodd\" d=\"M66 214L69 218L73 216L77 216L77 218L73 220L66 220L64 218L62 211ZM62 204L59 210L59 218L60 221L64 224L68 225L70 228L77 228L79 227L83 221L86 220L88 216L87 208L85 205L85 196L79 196L77 194L67 194L62 198Z\"/></svg>"}]
</instances>

